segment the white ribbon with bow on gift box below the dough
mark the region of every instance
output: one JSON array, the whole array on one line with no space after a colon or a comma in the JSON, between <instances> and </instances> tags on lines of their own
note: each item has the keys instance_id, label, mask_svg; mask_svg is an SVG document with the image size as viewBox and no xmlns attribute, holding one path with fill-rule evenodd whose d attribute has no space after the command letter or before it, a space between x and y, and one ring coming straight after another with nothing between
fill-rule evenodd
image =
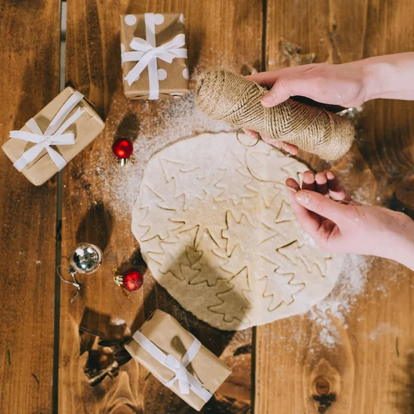
<instances>
[{"instance_id":1,"label":"white ribbon with bow on gift box below the dough","mask_svg":"<svg viewBox=\"0 0 414 414\"><path fill-rule=\"evenodd\" d=\"M161 349L158 348L157 345L152 343L150 339L139 331L135 332L132 338L135 339L135 341L137 341L138 344L141 345L142 348L144 348L150 355L152 355L152 357L155 357L158 362L175 373L175 376L167 382L161 380L161 378L158 378L158 380L165 386L170 388L175 381L178 381L179 392L181 394L189 394L190 390L192 390L204 402L208 402L208 400L210 400L212 397L211 393L207 391L203 384L201 384L201 382L199 382L199 380L197 380L197 378L190 374L186 369L188 364L193 361L195 355L197 355L197 352L201 346L197 338L194 338L193 344L191 344L190 348L188 348L188 351L186 352L186 355L184 355L183 359L181 359L181 362L170 354L166 355L163 351L161 351Z\"/></svg>"}]
</instances>

